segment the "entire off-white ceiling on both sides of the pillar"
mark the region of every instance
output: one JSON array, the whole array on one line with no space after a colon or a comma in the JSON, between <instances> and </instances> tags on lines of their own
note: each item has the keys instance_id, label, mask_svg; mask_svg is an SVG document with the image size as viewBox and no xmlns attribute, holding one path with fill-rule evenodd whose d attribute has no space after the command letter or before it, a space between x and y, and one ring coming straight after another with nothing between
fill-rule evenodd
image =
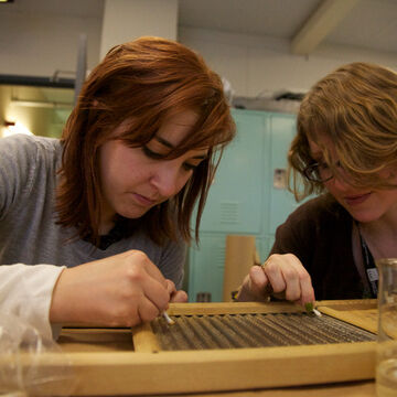
<instances>
[{"instance_id":1,"label":"entire off-white ceiling on both sides of the pillar","mask_svg":"<svg viewBox=\"0 0 397 397\"><path fill-rule=\"evenodd\" d=\"M100 19L104 0L14 0L0 12L2 7ZM179 0L179 25L285 39L297 53L299 45L308 53L321 42L397 52L397 0Z\"/></svg>"}]
</instances>

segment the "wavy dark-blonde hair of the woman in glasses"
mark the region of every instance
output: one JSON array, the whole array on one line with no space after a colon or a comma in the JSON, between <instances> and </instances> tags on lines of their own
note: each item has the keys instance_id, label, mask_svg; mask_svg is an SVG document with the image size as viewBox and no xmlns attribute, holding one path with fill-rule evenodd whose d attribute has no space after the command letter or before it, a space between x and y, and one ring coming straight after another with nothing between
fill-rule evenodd
<instances>
[{"instance_id":1,"label":"wavy dark-blonde hair of the woman in glasses","mask_svg":"<svg viewBox=\"0 0 397 397\"><path fill-rule=\"evenodd\" d=\"M323 183L303 176L304 169L315 162L309 139L320 146L331 169L334 167L330 148L319 142L319 137L332 141L340 165L355 185L394 186L378 173L397 162L397 74L363 62L339 67L304 96L297 129L288 155L293 176L290 190L297 200L324 191Z\"/></svg>"}]
</instances>

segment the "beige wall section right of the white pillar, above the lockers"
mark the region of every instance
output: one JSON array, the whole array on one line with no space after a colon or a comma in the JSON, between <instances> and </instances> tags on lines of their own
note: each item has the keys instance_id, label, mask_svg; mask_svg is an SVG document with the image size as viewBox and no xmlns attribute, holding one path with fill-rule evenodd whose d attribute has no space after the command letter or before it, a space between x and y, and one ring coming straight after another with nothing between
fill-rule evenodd
<instances>
[{"instance_id":1,"label":"beige wall section right of the white pillar, above the lockers","mask_svg":"<svg viewBox=\"0 0 397 397\"><path fill-rule=\"evenodd\" d=\"M397 69L397 53L346 45L322 44L308 56L293 55L288 40L183 26L179 40L226 77L236 96L266 97L283 88L308 89L332 69L355 61Z\"/></svg>"}]
</instances>

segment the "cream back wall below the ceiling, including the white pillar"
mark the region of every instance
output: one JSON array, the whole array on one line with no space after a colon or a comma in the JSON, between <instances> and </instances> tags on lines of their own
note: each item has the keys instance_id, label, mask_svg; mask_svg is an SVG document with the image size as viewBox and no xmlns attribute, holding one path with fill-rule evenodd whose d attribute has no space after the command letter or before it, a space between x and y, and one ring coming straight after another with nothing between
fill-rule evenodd
<instances>
[{"instance_id":1,"label":"cream back wall below the ceiling, including the white pillar","mask_svg":"<svg viewBox=\"0 0 397 397\"><path fill-rule=\"evenodd\" d=\"M287 7L290 2L278 0L278 3L280 1ZM262 2L276 4L270 0ZM318 0L298 2L302 8L321 3ZM67 12L64 10L66 3ZM244 3L248 7L248 2ZM391 1L373 0L373 3L380 9ZM208 64L230 82L236 96L267 96L282 88L308 89L331 69L352 61L371 61L397 68L396 52L324 42L308 56L293 55L290 40L280 39L280 35L192 28L181 20L178 4L181 8L185 1L14 0L10 6L0 4L0 74L51 76L55 71L75 71L81 33L87 34L88 69L99 62L100 54L112 44L111 40L132 40L141 34L162 34L171 39L176 35L180 42L201 52ZM228 4L236 4L236 1ZM397 10L395 2L394 6L393 11ZM397 20L397 14L395 17ZM285 19L288 18L286 13ZM382 20L376 23L386 32L386 28L390 28L382 26ZM365 31L365 26L363 29Z\"/></svg>"}]
</instances>

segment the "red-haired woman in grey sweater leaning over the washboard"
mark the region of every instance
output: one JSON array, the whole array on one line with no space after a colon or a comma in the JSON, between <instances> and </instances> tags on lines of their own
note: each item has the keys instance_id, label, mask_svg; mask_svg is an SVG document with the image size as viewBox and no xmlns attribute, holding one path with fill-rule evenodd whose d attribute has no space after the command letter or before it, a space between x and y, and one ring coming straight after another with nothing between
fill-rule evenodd
<instances>
[{"instance_id":1,"label":"red-haired woman in grey sweater leaning over the washboard","mask_svg":"<svg viewBox=\"0 0 397 397\"><path fill-rule=\"evenodd\" d=\"M197 238L214 154L234 133L196 53L159 37L111 49L61 140L0 140L0 309L51 335L63 322L130 326L185 301L193 207Z\"/></svg>"}]
</instances>

